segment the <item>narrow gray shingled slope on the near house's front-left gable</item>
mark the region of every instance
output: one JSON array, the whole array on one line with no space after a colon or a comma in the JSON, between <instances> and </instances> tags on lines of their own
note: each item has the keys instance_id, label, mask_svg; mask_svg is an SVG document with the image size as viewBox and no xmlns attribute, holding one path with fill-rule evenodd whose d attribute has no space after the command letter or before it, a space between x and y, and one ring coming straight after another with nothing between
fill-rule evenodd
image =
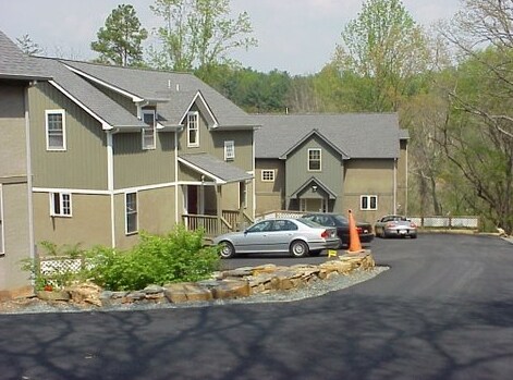
<instances>
[{"instance_id":1,"label":"narrow gray shingled slope on the near house's front-left gable","mask_svg":"<svg viewBox=\"0 0 513 380\"><path fill-rule=\"evenodd\" d=\"M110 126L120 127L122 130L123 127L143 127L146 125L121 105L70 71L60 61L39 58L38 62L48 72L52 73L54 83Z\"/></svg>"}]
</instances>

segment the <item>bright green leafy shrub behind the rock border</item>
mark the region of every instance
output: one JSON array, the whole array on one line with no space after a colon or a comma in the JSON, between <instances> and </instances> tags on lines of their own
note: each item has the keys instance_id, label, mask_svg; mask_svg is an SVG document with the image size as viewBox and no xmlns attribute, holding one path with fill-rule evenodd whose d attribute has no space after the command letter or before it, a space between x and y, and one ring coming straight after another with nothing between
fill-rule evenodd
<instances>
[{"instance_id":1,"label":"bright green leafy shrub behind the rock border","mask_svg":"<svg viewBox=\"0 0 513 380\"><path fill-rule=\"evenodd\" d=\"M166 236L142 233L127 252L97 247L87 255L88 277L111 291L206 279L219 268L219 255L216 247L203 246L203 236L179 225Z\"/></svg>"}]
</instances>

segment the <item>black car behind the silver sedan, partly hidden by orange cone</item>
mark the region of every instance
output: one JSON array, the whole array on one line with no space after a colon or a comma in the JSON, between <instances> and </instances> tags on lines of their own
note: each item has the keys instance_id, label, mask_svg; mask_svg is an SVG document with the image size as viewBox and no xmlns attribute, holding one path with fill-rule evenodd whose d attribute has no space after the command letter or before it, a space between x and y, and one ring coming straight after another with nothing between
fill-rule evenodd
<instances>
[{"instance_id":1,"label":"black car behind the silver sedan, partly hidden by orange cone","mask_svg":"<svg viewBox=\"0 0 513 380\"><path fill-rule=\"evenodd\" d=\"M350 221L340 213L315 212L307 213L302 218L312 220L323 226L335 226L342 246L350 246ZM374 238L372 226L367 222L356 222L356 231L358 232L361 243L370 243Z\"/></svg>"}]
</instances>

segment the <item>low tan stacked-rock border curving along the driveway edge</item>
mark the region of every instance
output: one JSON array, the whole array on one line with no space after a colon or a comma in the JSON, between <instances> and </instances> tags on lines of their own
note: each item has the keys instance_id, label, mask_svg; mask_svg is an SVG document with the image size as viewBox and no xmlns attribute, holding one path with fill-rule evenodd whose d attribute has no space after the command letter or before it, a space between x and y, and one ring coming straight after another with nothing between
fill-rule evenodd
<instances>
[{"instance_id":1,"label":"low tan stacked-rock border curving along the driveway edge","mask_svg":"<svg viewBox=\"0 0 513 380\"><path fill-rule=\"evenodd\" d=\"M328 257L327 261L317 266L298 263L285 267L269 263L242 267L216 272L210 280L149 285L132 292L103 291L96 284L81 283L60 291L39 291L36 296L45 302L78 308L208 303L298 290L321 280L352 274L356 270L370 271L375 267L370 250L363 250Z\"/></svg>"}]
</instances>

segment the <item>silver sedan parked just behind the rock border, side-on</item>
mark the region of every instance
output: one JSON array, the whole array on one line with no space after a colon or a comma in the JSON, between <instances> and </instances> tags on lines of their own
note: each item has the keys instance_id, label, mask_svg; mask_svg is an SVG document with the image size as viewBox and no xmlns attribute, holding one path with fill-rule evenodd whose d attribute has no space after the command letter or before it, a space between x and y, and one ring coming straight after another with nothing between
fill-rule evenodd
<instances>
[{"instance_id":1,"label":"silver sedan parked just behind the rock border, side-on","mask_svg":"<svg viewBox=\"0 0 513 380\"><path fill-rule=\"evenodd\" d=\"M335 249L340 245L337 229L326 228L303 219L267 219L241 232L230 232L213 238L221 245L222 258L236 254L290 253L293 257L322 249Z\"/></svg>"}]
</instances>

